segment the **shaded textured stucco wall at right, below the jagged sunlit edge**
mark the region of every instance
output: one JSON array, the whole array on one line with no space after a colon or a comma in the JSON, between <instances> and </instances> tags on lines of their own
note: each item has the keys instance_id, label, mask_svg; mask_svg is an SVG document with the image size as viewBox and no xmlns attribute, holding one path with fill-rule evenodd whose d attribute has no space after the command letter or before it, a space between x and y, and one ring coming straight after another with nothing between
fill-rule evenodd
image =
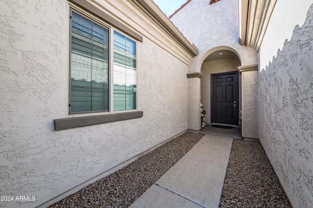
<instances>
[{"instance_id":1,"label":"shaded textured stucco wall at right, below the jagged sunlit edge","mask_svg":"<svg viewBox=\"0 0 313 208\"><path fill-rule=\"evenodd\" d=\"M259 73L260 141L291 205L313 207L313 5L268 61Z\"/></svg>"}]
</instances>

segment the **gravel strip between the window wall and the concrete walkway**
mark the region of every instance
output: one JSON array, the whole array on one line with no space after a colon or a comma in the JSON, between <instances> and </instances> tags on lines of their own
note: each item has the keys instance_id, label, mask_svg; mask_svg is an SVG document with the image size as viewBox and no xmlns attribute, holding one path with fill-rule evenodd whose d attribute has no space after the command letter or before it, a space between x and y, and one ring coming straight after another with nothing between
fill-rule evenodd
<instances>
[{"instance_id":1,"label":"gravel strip between the window wall and the concrete walkway","mask_svg":"<svg viewBox=\"0 0 313 208\"><path fill-rule=\"evenodd\" d=\"M127 208L202 137L186 132L50 208Z\"/></svg>"}]
</instances>

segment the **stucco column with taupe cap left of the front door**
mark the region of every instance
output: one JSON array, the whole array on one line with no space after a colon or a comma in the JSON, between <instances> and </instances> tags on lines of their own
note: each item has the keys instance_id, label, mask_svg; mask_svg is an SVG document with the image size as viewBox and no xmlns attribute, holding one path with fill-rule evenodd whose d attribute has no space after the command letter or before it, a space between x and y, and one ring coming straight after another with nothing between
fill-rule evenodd
<instances>
[{"instance_id":1,"label":"stucco column with taupe cap left of the front door","mask_svg":"<svg viewBox=\"0 0 313 208\"><path fill-rule=\"evenodd\" d=\"M188 78L188 129L199 131L201 129L200 121L200 96L201 96L201 78L203 75L199 72L187 74Z\"/></svg>"}]
</instances>

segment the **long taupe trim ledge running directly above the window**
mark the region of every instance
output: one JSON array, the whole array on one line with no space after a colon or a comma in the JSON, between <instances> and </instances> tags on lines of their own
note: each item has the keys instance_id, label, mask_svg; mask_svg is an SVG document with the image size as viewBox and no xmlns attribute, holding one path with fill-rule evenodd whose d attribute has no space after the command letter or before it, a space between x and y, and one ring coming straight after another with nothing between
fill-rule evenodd
<instances>
[{"instance_id":1,"label":"long taupe trim ledge running directly above the window","mask_svg":"<svg viewBox=\"0 0 313 208\"><path fill-rule=\"evenodd\" d=\"M89 3L86 0L68 0L71 3L74 3L75 5L78 5L81 8L84 8L84 10L87 10L90 14L93 14L105 22L108 22L109 24L113 25L115 28L123 31L125 34L129 35L130 37L142 42L143 38L136 32L134 32L129 27L125 26L122 22L112 18L112 16L106 14L104 11L96 7L95 5Z\"/></svg>"}]
</instances>

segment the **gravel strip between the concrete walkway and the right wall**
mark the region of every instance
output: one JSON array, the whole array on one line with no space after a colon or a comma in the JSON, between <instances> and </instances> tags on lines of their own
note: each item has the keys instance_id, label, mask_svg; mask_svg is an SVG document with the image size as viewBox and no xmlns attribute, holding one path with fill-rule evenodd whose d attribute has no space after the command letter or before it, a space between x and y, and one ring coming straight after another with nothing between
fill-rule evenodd
<instances>
[{"instance_id":1,"label":"gravel strip between the concrete walkway and the right wall","mask_svg":"<svg viewBox=\"0 0 313 208\"><path fill-rule=\"evenodd\" d=\"M233 141L220 208L291 208L259 141Z\"/></svg>"}]
</instances>

